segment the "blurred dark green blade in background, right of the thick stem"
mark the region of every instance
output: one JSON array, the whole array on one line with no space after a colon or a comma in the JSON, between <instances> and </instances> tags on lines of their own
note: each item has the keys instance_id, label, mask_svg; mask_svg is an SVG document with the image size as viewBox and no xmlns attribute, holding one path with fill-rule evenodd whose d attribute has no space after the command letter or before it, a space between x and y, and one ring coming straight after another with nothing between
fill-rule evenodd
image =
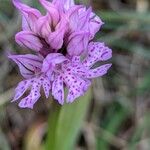
<instances>
[{"instance_id":1,"label":"blurred dark green blade in background, right of the thick stem","mask_svg":"<svg viewBox=\"0 0 150 150\"><path fill-rule=\"evenodd\" d=\"M117 134L117 131L121 128L121 125L128 118L128 116L129 112L127 109L121 107L117 103L113 103L113 105L108 108L108 112L105 116L106 118L103 120L103 125L101 125L101 128L106 132L101 132L97 138L97 149L109 149L109 142L111 141L112 136Z\"/></svg>"}]
</instances>

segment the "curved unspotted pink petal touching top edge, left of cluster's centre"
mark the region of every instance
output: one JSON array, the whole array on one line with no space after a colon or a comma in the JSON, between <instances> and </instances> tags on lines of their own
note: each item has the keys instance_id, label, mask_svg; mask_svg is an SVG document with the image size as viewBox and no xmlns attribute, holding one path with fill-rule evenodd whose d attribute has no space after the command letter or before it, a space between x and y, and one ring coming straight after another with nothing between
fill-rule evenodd
<instances>
[{"instance_id":1,"label":"curved unspotted pink petal touching top edge, left of cluster's centre","mask_svg":"<svg viewBox=\"0 0 150 150\"><path fill-rule=\"evenodd\" d=\"M53 21L53 26L55 27L60 19L57 8L55 7L54 4L50 3L47 0L39 0L39 1L43 5L43 7L49 12L49 14L52 18L52 21Z\"/></svg>"}]
</instances>

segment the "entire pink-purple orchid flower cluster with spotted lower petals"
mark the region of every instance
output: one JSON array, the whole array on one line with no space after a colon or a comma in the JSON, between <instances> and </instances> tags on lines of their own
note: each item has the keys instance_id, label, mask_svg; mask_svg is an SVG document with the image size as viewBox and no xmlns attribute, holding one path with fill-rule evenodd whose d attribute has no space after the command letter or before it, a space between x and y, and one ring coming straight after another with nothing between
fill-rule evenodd
<instances>
[{"instance_id":1,"label":"entire pink-purple orchid flower cluster with spotted lower petals","mask_svg":"<svg viewBox=\"0 0 150 150\"><path fill-rule=\"evenodd\" d=\"M16 42L35 54L10 55L25 78L15 89L13 101L20 99L30 89L19 106L33 108L43 88L46 98L51 93L61 105L65 102L64 88L68 89L66 102L82 96L91 79L107 73L111 64L98 67L97 63L112 57L104 43L92 42L103 22L83 5L74 0L39 0L46 14L41 14L19 0L13 0L22 15L22 31Z\"/></svg>"}]
</instances>

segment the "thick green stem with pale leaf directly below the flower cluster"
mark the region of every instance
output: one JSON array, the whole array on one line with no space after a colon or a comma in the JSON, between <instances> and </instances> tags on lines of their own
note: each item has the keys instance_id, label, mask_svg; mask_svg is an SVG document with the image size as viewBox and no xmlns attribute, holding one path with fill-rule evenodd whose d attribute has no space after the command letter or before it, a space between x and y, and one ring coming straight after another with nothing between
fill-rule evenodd
<instances>
[{"instance_id":1,"label":"thick green stem with pale leaf directly below the flower cluster","mask_svg":"<svg viewBox=\"0 0 150 150\"><path fill-rule=\"evenodd\" d=\"M71 150L82 127L91 100L91 90L72 104L54 105L50 113L46 150Z\"/></svg>"}]
</instances>

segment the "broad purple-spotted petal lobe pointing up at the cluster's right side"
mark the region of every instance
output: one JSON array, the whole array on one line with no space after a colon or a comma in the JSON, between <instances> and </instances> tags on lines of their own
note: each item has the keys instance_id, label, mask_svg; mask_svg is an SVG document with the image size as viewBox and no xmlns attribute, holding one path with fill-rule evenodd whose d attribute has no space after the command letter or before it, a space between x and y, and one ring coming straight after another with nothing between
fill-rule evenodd
<instances>
[{"instance_id":1,"label":"broad purple-spotted petal lobe pointing up at the cluster's right side","mask_svg":"<svg viewBox=\"0 0 150 150\"><path fill-rule=\"evenodd\" d=\"M98 61L105 61L112 57L112 50L100 42L91 42L88 46L88 56L83 61L85 67L92 67Z\"/></svg>"}]
</instances>

